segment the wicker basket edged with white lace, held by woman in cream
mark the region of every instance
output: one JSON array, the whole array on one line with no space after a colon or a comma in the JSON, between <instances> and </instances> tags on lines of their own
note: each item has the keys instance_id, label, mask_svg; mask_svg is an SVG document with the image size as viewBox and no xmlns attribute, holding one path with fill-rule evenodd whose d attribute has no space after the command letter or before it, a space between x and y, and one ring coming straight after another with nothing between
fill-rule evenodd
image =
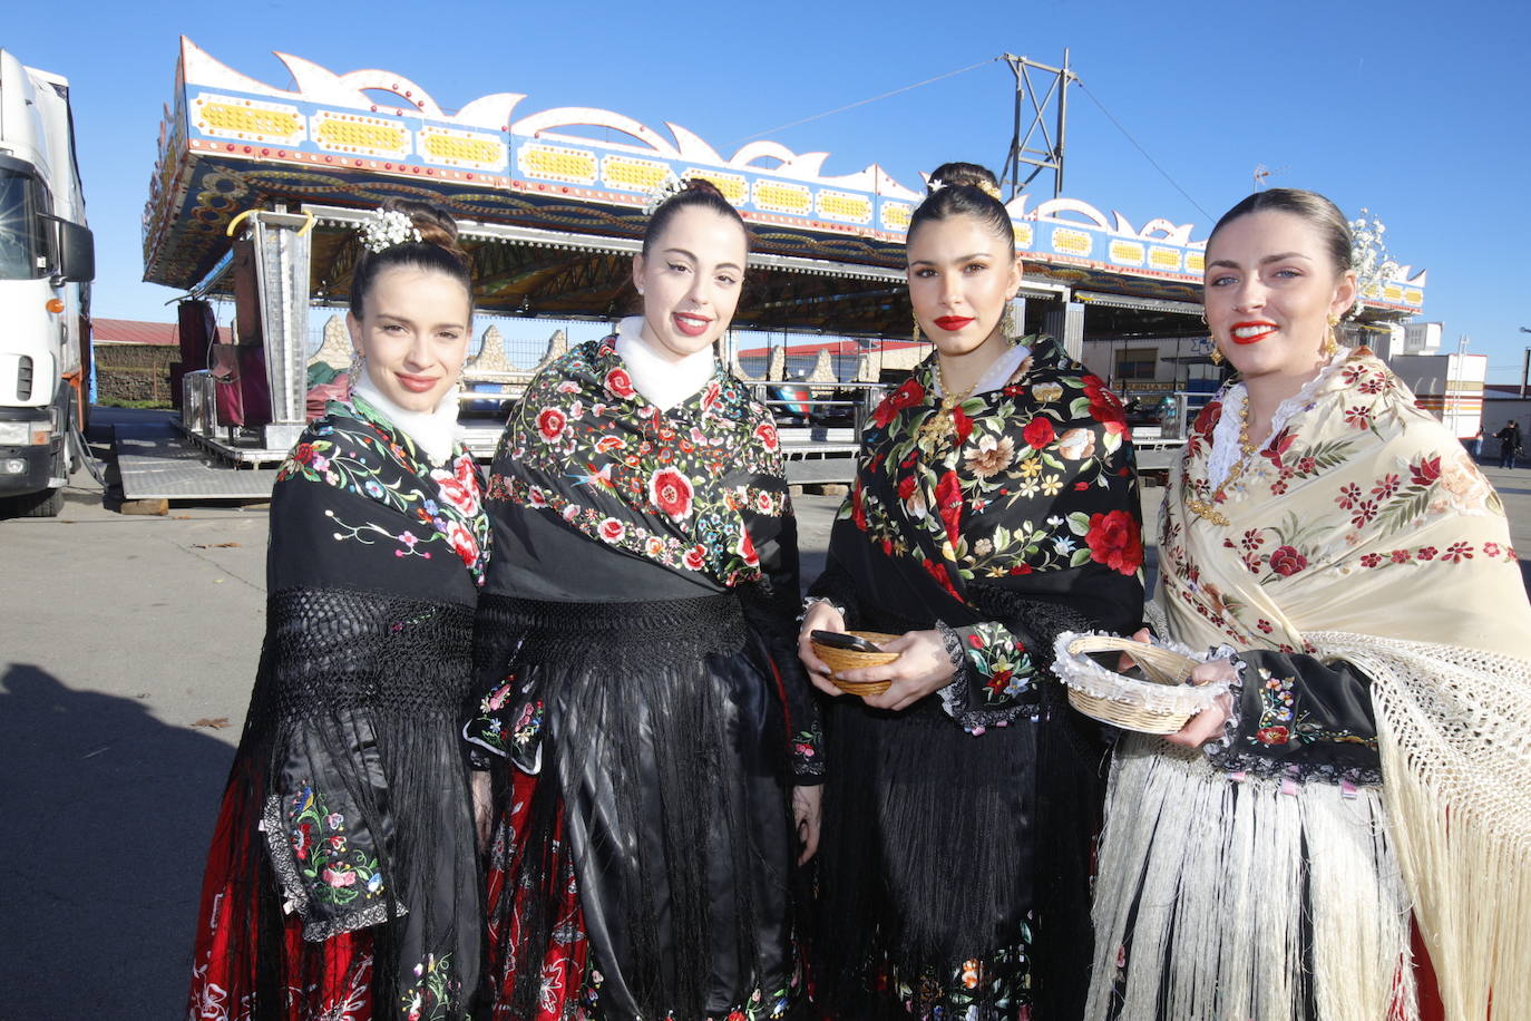
<instances>
[{"instance_id":1,"label":"wicker basket edged with white lace, held by woman in cream","mask_svg":"<svg viewBox=\"0 0 1531 1021\"><path fill-rule=\"evenodd\" d=\"M1113 678L1108 683L1115 689L1112 696L1102 696L1081 690L1073 680L1064 675L1066 672L1059 670L1064 683L1069 684L1069 703L1092 719L1139 733L1174 733L1199 712L1187 709L1183 704L1164 706L1167 701L1164 687L1185 684L1197 664L1188 655L1164 646L1112 635L1064 635L1058 641L1056 652L1059 660L1066 655L1081 657L1090 652L1125 652L1148 678L1142 681L1102 670L1096 674L1095 680L1099 683L1102 675Z\"/></svg>"}]
</instances>

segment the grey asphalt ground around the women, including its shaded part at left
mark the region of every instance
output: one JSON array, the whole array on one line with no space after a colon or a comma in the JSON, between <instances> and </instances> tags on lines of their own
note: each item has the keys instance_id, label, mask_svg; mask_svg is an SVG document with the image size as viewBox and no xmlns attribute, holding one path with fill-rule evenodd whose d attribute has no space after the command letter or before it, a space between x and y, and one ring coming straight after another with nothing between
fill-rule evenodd
<instances>
[{"instance_id":1,"label":"grey asphalt ground around the women, including its shaded part at left","mask_svg":"<svg viewBox=\"0 0 1531 1021\"><path fill-rule=\"evenodd\" d=\"M1531 553L1531 468L1485 473ZM265 628L263 507L127 516L104 496L81 473L57 519L0 520L0 1018L184 1016ZM798 499L805 579L837 505Z\"/></svg>"}]
</instances>

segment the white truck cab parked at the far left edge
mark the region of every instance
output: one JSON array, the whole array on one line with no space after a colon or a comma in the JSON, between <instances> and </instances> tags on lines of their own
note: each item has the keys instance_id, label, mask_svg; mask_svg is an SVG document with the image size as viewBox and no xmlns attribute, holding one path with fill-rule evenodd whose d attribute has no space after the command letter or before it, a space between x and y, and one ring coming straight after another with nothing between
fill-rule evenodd
<instances>
[{"instance_id":1,"label":"white truck cab parked at the far left edge","mask_svg":"<svg viewBox=\"0 0 1531 1021\"><path fill-rule=\"evenodd\" d=\"M0 49L0 516L63 505L93 277L69 83Z\"/></svg>"}]
</instances>

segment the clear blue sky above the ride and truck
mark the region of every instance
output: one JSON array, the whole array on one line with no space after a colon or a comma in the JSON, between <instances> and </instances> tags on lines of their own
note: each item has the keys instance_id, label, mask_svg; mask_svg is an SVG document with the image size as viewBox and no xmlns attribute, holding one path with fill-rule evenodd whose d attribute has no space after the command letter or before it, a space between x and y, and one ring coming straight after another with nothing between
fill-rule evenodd
<instances>
[{"instance_id":1,"label":"clear blue sky above the ride and truck","mask_svg":"<svg viewBox=\"0 0 1531 1021\"><path fill-rule=\"evenodd\" d=\"M60 14L61 12L61 14ZM446 109L524 92L519 115L594 106L736 144L1001 52L1056 63L1072 47L1064 193L1128 220L1211 220L1251 190L1323 191L1369 207L1401 262L1430 271L1425 318L1519 378L1531 334L1525 197L1531 15L1482 3L11 3L0 46L66 75L75 95L95 312L170 320L176 294L141 283L139 222L178 37L259 81L289 84L271 51L335 72L383 67ZM1003 63L770 135L828 152L827 173L882 164L906 185L948 159L994 165L1010 133ZM1183 188L1188 201L1176 188Z\"/></svg>"}]
</instances>

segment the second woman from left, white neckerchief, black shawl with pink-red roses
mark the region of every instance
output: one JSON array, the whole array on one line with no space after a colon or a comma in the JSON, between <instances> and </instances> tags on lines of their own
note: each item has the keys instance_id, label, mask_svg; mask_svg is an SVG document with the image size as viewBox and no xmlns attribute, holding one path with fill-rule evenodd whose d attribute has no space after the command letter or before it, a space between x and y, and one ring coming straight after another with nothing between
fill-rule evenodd
<instances>
[{"instance_id":1,"label":"second woman from left, white neckerchief, black shawl with pink-red roses","mask_svg":"<svg viewBox=\"0 0 1531 1021\"><path fill-rule=\"evenodd\" d=\"M643 315L527 389L490 476L482 716L496 1018L785 1016L818 842L798 545L770 413L723 369L749 251L690 181L649 219Z\"/></svg>"}]
</instances>

